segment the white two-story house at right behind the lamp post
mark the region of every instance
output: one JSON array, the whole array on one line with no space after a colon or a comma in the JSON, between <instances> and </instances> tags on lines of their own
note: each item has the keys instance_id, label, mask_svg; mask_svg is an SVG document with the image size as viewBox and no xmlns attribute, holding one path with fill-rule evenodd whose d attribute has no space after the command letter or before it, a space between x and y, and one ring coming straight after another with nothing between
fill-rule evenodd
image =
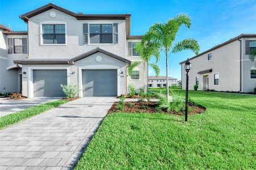
<instances>
[{"instance_id":1,"label":"white two-story house at right behind the lamp post","mask_svg":"<svg viewBox=\"0 0 256 170\"><path fill-rule=\"evenodd\" d=\"M253 92L256 87L256 63L249 53L256 49L256 34L242 34L189 59L189 90ZM182 89L185 89L184 63L181 65Z\"/></svg>"}]
</instances>

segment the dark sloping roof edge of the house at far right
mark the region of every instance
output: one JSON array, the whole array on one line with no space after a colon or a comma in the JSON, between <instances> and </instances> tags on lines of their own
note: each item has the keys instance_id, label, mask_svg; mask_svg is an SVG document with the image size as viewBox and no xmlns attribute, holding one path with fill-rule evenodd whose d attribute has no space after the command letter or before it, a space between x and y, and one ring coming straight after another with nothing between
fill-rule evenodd
<instances>
[{"instance_id":1,"label":"dark sloping roof edge of the house at far right","mask_svg":"<svg viewBox=\"0 0 256 170\"><path fill-rule=\"evenodd\" d=\"M220 48L221 46L224 46L224 45L226 45L226 44L229 44L230 42L236 41L236 40L241 39L241 38L246 38L246 37L256 37L256 34L243 34L243 33L242 33L241 35L236 36L236 37L234 37L233 39L230 39L230 40L228 40L228 41L226 41L226 42L223 42L222 44L216 45L216 46L214 46L213 48L210 48L210 49L206 50L206 51L203 52L203 53L197 54L196 56L189 58L188 60L194 59L194 58L196 58L196 57L200 57L201 55L203 55L203 54L205 54L205 53L209 53L209 52L211 52L212 50L215 50L215 49L217 49L217 48ZM184 60L184 61L181 61L181 62L180 62L180 65L183 64L183 63L186 62L186 61L187 61L187 59Z\"/></svg>"}]
</instances>

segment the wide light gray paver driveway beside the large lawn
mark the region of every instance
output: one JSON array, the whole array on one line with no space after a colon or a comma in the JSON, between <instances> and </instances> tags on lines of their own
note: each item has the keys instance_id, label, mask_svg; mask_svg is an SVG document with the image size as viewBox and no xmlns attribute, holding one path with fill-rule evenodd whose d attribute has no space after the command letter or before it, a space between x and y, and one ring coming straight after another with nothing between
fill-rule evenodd
<instances>
[{"instance_id":1,"label":"wide light gray paver driveway beside the large lawn","mask_svg":"<svg viewBox=\"0 0 256 170\"><path fill-rule=\"evenodd\" d=\"M115 97L84 97L0 130L0 169L72 169Z\"/></svg>"}]
</instances>

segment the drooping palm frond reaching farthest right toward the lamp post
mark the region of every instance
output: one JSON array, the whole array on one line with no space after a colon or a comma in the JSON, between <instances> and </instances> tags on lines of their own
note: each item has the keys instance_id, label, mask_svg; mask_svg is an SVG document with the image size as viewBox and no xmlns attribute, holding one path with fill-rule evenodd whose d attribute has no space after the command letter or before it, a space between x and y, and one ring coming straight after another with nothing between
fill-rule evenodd
<instances>
[{"instance_id":1,"label":"drooping palm frond reaching farthest right toward the lamp post","mask_svg":"<svg viewBox=\"0 0 256 170\"><path fill-rule=\"evenodd\" d=\"M200 46L195 39L185 39L183 41L177 42L177 44L172 47L172 53L181 52L185 49L190 49L193 53L198 54Z\"/></svg>"}]
</instances>

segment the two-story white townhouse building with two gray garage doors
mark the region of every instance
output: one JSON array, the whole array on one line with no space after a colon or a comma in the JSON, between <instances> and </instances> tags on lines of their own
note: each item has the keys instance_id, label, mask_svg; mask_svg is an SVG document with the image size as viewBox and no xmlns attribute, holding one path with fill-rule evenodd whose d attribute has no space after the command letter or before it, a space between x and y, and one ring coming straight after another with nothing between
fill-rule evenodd
<instances>
[{"instance_id":1,"label":"two-story white townhouse building with two gray garage doors","mask_svg":"<svg viewBox=\"0 0 256 170\"><path fill-rule=\"evenodd\" d=\"M89 15L49 3L20 18L28 32L1 28L0 92L64 96L60 84L77 84L80 97L119 96L127 84L139 91L147 83L143 63L127 74L132 61L142 61L134 50L142 36L130 35L130 14Z\"/></svg>"}]
</instances>

